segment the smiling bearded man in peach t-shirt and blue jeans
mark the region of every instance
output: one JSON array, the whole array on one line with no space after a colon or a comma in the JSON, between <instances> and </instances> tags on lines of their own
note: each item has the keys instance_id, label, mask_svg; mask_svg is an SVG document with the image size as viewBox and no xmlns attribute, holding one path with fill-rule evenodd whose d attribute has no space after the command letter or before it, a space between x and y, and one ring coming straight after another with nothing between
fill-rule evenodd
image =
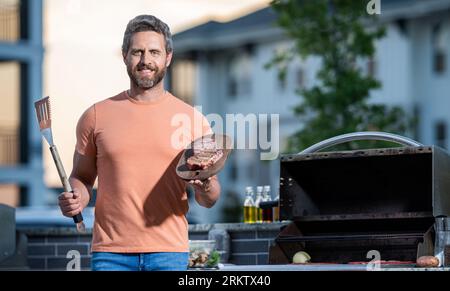
<instances>
[{"instance_id":1,"label":"smiling bearded man in peach t-shirt and blue jeans","mask_svg":"<svg viewBox=\"0 0 450 291\"><path fill-rule=\"evenodd\" d=\"M65 216L80 213L98 176L93 270L187 269L189 184L175 171L182 149L173 143L180 130L173 118L203 120L200 132L183 128L190 135L187 144L211 128L193 107L164 90L172 53L165 23L150 15L132 19L122 45L130 89L94 104L78 121L74 193L62 193L59 206ZM219 198L215 176L189 183L200 205L210 208Z\"/></svg>"}]
</instances>

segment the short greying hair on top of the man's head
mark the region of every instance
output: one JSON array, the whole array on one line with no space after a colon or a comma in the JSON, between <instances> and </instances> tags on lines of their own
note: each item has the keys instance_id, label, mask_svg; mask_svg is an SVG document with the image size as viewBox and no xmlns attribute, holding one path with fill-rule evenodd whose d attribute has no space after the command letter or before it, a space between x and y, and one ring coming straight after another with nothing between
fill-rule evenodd
<instances>
[{"instance_id":1,"label":"short greying hair on top of the man's head","mask_svg":"<svg viewBox=\"0 0 450 291\"><path fill-rule=\"evenodd\" d=\"M141 31L154 31L162 34L166 41L166 52L171 53L173 51L172 34L169 26L153 15L139 15L128 22L123 36L123 54L126 54L130 48L131 36Z\"/></svg>"}]
</instances>

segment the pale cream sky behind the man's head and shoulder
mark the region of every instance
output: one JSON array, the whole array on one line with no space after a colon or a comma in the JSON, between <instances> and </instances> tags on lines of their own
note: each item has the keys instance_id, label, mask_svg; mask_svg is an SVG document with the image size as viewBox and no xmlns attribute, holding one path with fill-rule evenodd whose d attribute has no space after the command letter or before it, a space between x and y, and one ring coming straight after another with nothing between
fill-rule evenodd
<instances>
[{"instance_id":1,"label":"pale cream sky behind the man's head and shoulder","mask_svg":"<svg viewBox=\"0 0 450 291\"><path fill-rule=\"evenodd\" d=\"M229 21L269 0L45 0L44 89L66 172L72 169L75 127L89 106L129 88L120 48L128 21L152 14L176 33L209 20ZM175 48L176 49L176 48ZM44 147L45 181L60 181Z\"/></svg>"}]
</instances>

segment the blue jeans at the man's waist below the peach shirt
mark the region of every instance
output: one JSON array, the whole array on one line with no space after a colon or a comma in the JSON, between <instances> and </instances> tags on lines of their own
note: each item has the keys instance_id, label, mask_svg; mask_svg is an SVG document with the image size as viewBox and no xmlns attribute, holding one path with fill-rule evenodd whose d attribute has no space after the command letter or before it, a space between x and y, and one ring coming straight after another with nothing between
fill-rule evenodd
<instances>
[{"instance_id":1,"label":"blue jeans at the man's waist below the peach shirt","mask_svg":"<svg viewBox=\"0 0 450 291\"><path fill-rule=\"evenodd\" d=\"M92 271L186 271L189 253L92 253Z\"/></svg>"}]
</instances>

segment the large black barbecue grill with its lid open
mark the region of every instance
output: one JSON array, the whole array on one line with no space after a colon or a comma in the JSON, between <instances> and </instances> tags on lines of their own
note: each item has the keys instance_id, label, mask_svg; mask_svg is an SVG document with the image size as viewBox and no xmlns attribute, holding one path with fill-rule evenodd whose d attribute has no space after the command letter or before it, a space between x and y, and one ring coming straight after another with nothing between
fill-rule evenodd
<instances>
[{"instance_id":1,"label":"large black barbecue grill with its lid open","mask_svg":"<svg viewBox=\"0 0 450 291\"><path fill-rule=\"evenodd\" d=\"M322 150L354 140L385 140L396 148ZM382 132L358 132L320 142L280 159L280 218L270 264L415 263L434 255L450 264L450 156L436 146Z\"/></svg>"}]
</instances>

